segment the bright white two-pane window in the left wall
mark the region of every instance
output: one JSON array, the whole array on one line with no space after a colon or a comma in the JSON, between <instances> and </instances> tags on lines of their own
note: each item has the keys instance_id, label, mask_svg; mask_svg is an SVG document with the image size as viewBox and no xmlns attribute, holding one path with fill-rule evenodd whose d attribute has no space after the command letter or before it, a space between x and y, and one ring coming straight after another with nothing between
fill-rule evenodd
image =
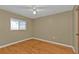
<instances>
[{"instance_id":1,"label":"bright white two-pane window in the left wall","mask_svg":"<svg viewBox=\"0 0 79 59\"><path fill-rule=\"evenodd\" d=\"M11 18L10 21L11 30L26 30L26 21Z\"/></svg>"}]
</instances>

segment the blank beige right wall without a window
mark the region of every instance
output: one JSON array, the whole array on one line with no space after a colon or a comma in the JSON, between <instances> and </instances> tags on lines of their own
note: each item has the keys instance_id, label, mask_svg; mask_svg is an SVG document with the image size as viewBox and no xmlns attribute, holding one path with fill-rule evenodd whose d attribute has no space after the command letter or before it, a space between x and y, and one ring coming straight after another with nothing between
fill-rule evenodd
<instances>
[{"instance_id":1,"label":"blank beige right wall without a window","mask_svg":"<svg viewBox=\"0 0 79 59\"><path fill-rule=\"evenodd\" d=\"M72 11L33 20L34 37L73 45Z\"/></svg>"}]
</instances>

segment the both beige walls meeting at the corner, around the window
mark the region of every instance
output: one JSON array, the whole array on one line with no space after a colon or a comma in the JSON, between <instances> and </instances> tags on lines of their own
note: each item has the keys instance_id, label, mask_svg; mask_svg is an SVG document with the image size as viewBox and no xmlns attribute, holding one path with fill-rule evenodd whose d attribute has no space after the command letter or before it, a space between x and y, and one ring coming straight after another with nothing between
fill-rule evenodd
<instances>
[{"instance_id":1,"label":"both beige walls meeting at the corner, around the window","mask_svg":"<svg viewBox=\"0 0 79 59\"><path fill-rule=\"evenodd\" d=\"M11 31L11 17L26 20L27 30ZM32 20L27 17L0 10L0 45L33 36L63 44L74 45L72 18L72 11Z\"/></svg>"}]
</instances>

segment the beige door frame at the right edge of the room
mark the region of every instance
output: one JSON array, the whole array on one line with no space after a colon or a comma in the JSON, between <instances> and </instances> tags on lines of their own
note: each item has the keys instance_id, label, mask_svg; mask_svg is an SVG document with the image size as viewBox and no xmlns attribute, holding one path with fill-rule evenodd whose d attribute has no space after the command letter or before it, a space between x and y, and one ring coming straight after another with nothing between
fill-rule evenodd
<instances>
[{"instance_id":1,"label":"beige door frame at the right edge of the room","mask_svg":"<svg viewBox=\"0 0 79 59\"><path fill-rule=\"evenodd\" d=\"M74 6L73 8L73 46L74 46L74 49L75 49L75 53L79 53L79 48L78 48L78 24L79 24L79 17L78 17L78 14L79 13L79 6L76 5Z\"/></svg>"}]
</instances>

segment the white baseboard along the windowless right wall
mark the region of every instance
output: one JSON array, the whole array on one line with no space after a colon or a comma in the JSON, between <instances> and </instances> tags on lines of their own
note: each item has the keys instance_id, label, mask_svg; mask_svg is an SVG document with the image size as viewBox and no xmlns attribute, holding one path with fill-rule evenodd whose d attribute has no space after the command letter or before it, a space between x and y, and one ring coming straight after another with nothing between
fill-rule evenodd
<instances>
[{"instance_id":1,"label":"white baseboard along the windowless right wall","mask_svg":"<svg viewBox=\"0 0 79 59\"><path fill-rule=\"evenodd\" d=\"M69 48L72 48L74 53L76 52L75 48L73 46L71 46L71 45L67 45L67 44L63 44L63 43L58 43L58 42L54 42L54 41L48 41L48 40L45 40L45 39L40 39L40 38L35 38L35 37L33 37L33 39L44 41L44 42L49 42L51 44L57 44L57 45L62 45L62 46L65 46L65 47L69 47Z\"/></svg>"}]
</instances>

